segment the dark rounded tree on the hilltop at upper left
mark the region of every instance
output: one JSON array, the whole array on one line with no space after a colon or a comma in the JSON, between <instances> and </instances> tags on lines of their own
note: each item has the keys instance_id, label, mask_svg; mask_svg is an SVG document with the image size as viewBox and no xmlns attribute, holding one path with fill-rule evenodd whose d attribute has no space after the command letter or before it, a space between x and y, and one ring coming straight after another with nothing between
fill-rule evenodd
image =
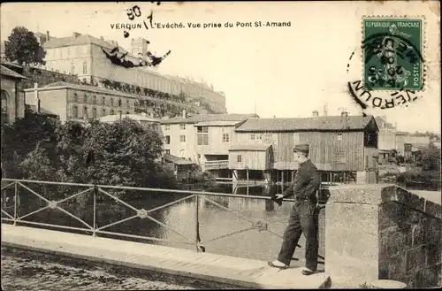
<instances>
[{"instance_id":1,"label":"dark rounded tree on the hilltop at upper left","mask_svg":"<svg viewBox=\"0 0 442 291\"><path fill-rule=\"evenodd\" d=\"M8 40L4 42L4 55L10 61L19 62L20 65L46 64L44 61L46 51L26 27L12 29Z\"/></svg>"}]
</instances>

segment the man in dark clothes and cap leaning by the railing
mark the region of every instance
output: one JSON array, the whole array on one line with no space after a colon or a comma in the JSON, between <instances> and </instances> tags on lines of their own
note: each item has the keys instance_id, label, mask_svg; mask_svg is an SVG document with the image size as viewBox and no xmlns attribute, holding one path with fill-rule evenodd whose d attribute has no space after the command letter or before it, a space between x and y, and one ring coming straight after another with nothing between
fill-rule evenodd
<instances>
[{"instance_id":1,"label":"man in dark clothes and cap leaning by the railing","mask_svg":"<svg viewBox=\"0 0 442 291\"><path fill-rule=\"evenodd\" d=\"M316 220L316 191L320 185L319 174L316 166L309 159L309 145L296 145L293 149L294 160L299 162L298 172L291 188L283 194L278 194L277 199L293 194L296 202L288 220L284 233L282 247L278 259L269 262L272 267L286 269L290 266L294 249L303 233L306 237L306 267L303 275L316 272L317 267L317 220Z\"/></svg>"}]
</instances>

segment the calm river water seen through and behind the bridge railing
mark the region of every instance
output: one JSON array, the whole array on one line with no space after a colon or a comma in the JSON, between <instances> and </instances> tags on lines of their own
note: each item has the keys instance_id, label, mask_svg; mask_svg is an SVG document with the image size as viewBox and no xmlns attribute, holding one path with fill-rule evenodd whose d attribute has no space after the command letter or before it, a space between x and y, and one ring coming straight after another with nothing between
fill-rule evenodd
<instances>
[{"instance_id":1,"label":"calm river water seen through and behind the bridge railing","mask_svg":"<svg viewBox=\"0 0 442 291\"><path fill-rule=\"evenodd\" d=\"M59 188L42 188L39 185L30 183L24 183L24 185L33 189L36 193L42 195L44 193L43 196L47 196L50 193L57 193L57 191L59 191ZM86 188L65 188L64 191L68 191L72 195L83 189ZM270 196L280 193L283 189L284 188L280 185L243 186L233 188L232 184L210 184L199 187L198 189L194 188L194 191ZM13 188L11 188L10 191L13 191ZM39 207L47 205L47 203L43 202L38 196L32 194L27 188L19 187L18 193L20 203L17 208L17 213L19 217L36 211ZM149 211L166 203L177 201L188 195L189 194L162 193L159 191L141 192L130 190L126 191L126 194L122 199L124 202L132 205L138 210L144 209ZM83 219L88 225L92 226L94 224L93 197L93 191L90 191L87 194L82 194L63 203L59 203L58 206ZM201 195L200 197L203 198L200 198L198 201L198 220L200 223L199 233L206 252L259 260L271 260L278 255L282 242L282 239L278 235L284 233L284 228L286 227L287 218L293 203L284 202L279 206L271 200L216 195ZM208 199L214 203L210 203ZM59 198L55 200L59 200ZM118 220L131 218L137 214L136 211L133 211L124 203L119 203L103 193L96 194L96 201L95 225L98 227L107 226L111 223L118 222ZM6 205L5 211L13 215L13 203ZM156 219L159 223L152 221L149 218L135 217L116 225L103 228L103 231L106 232L147 236L164 241L126 238L115 234L97 234L97 236L161 244L182 249L195 249L195 212L196 200L192 197L149 213L150 217ZM5 218L4 214L2 214L2 218ZM262 225L267 224L267 230L259 230L256 228L248 229L253 224L246 218L255 223L259 221ZM65 212L50 208L36 212L22 219L52 225L86 227L78 220L71 218ZM27 224L20 225L32 226ZM37 227L60 230L50 226ZM61 230L77 232L72 230ZM319 244L319 253L324 256L324 210L319 214ZM301 248L297 249L294 257L303 259L305 247L303 236L301 237L300 245Z\"/></svg>"}]
</instances>

